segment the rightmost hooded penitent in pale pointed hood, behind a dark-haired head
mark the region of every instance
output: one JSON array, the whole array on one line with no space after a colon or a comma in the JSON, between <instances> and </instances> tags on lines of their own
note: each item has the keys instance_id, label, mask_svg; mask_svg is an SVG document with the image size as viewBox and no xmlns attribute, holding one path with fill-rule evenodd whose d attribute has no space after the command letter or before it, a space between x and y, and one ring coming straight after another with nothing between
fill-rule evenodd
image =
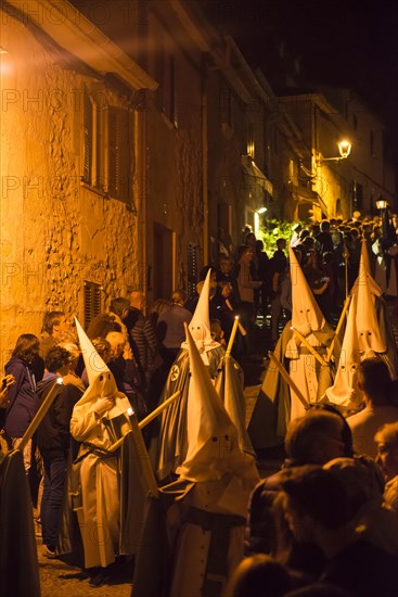
<instances>
[{"instance_id":1,"label":"rightmost hooded penitent in pale pointed hood, behind a dark-haired head","mask_svg":"<svg viewBox=\"0 0 398 597\"><path fill-rule=\"evenodd\" d=\"M334 384L326 390L326 397L332 403L355 407L361 402L357 377L358 366L364 358L381 356L386 360L393 379L397 377L396 355L389 355L390 326L381 294L370 274L368 250L362 242L359 276L351 290L336 377Z\"/></svg>"}]
</instances>

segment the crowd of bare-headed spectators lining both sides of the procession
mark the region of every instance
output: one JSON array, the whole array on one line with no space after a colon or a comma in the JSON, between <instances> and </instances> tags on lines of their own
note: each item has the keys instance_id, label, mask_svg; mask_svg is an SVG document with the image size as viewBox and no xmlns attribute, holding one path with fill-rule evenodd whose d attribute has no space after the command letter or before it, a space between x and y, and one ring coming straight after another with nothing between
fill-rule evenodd
<instances>
[{"instance_id":1,"label":"crowd of bare-headed spectators lining both sides of the procession","mask_svg":"<svg viewBox=\"0 0 398 597\"><path fill-rule=\"evenodd\" d=\"M256 355L259 317L264 322L270 316L274 344L282 314L286 319L291 316L287 244L321 310L333 321L358 277L362 239L382 290L397 296L396 217L387 224L380 218L297 224L290 240L277 240L271 255L246 229L236 251L222 244L217 263L203 268L195 296L188 300L177 289L146 314L144 293L133 291L128 298L112 300L110 308L90 321L87 334L117 389L142 419L157 405L209 268L211 335L227 345L239 315L242 330L233 347L239 360ZM258 587L265 584L272 587L268 595L293 590L306 595L303 587L311 582L339 587L337 593L320 587L317 595L395 594L390 587L396 584L390 583L398 580L398 408L391 402L396 390L380 364L364 366L361 374L364 409L352 423L333 408L313 408L292 421L285 441L287 462L280 473L262 481L252 497L248 558L231 581L231 597L260 595ZM89 385L76 330L61 310L44 314L41 338L22 334L5 365L1 428L9 447L18 446L56 376L63 377L64 384L55 407L24 448L49 558L55 557L67 458L70 450L74 457L77 454L70 444L69 421ZM361 454L365 457L359 458ZM359 533L360 529L365 532Z\"/></svg>"}]
</instances>

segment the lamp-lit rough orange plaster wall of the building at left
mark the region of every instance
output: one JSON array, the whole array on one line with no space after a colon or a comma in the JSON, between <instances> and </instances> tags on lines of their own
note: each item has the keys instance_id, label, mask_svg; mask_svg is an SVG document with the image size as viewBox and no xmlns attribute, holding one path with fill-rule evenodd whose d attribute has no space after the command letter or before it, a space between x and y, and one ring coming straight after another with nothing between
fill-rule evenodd
<instances>
[{"instance_id":1,"label":"lamp-lit rough orange plaster wall of the building at left","mask_svg":"<svg viewBox=\"0 0 398 597\"><path fill-rule=\"evenodd\" d=\"M13 69L2 86L16 100L1 113L1 365L21 333L40 334L44 310L81 315L85 280L103 287L107 306L137 263L136 216L80 186L82 77L22 24L3 29Z\"/></svg>"}]
</instances>

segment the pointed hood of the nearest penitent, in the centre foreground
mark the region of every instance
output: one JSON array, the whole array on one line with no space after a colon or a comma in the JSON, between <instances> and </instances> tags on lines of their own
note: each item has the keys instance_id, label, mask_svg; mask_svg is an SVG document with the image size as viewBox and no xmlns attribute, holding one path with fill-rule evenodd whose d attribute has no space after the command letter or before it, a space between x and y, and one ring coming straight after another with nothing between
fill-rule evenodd
<instances>
[{"instance_id":1,"label":"pointed hood of the nearest penitent, in the centre foreground","mask_svg":"<svg viewBox=\"0 0 398 597\"><path fill-rule=\"evenodd\" d=\"M237 430L217 395L187 326L185 333L191 366L188 453L177 473L180 479L194 482L220 480L226 473L246 480L257 479L255 460L240 449Z\"/></svg>"}]
</instances>

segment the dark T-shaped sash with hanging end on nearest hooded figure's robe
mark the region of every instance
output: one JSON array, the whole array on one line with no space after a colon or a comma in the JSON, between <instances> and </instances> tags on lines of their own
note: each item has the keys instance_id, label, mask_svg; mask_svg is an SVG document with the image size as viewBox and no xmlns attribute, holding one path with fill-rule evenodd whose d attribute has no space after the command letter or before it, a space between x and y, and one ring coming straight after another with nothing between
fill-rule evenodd
<instances>
[{"instance_id":1,"label":"dark T-shaped sash with hanging end on nearest hooded figure's robe","mask_svg":"<svg viewBox=\"0 0 398 597\"><path fill-rule=\"evenodd\" d=\"M185 522L196 524L204 531L210 531L205 579L202 585L203 597L219 597L228 574L228 546L230 531L245 525L245 518L235 515L220 515L190 508Z\"/></svg>"}]
</instances>

